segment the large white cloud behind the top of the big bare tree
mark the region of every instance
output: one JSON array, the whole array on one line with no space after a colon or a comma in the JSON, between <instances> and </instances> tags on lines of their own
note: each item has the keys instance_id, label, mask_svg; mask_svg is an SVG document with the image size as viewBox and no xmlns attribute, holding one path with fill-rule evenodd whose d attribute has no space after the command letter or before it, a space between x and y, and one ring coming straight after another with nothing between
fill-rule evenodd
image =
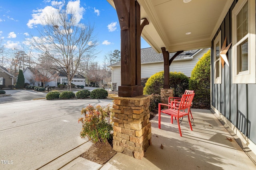
<instances>
[{"instance_id":1,"label":"large white cloud behind the top of the big bare tree","mask_svg":"<svg viewBox=\"0 0 256 170\"><path fill-rule=\"evenodd\" d=\"M54 14L58 16L57 9L54 8L54 4L58 4L57 6L62 7L62 2L52 1L52 6L46 6L44 9L38 9L33 10L32 19L28 20L27 26L29 28L33 28L37 24L44 25L46 24L45 21L48 16L53 16ZM75 17L76 17L76 23L79 23L80 20L83 18L83 14L85 9L83 7L80 7L80 0L76 1L69 1L67 4L67 8L70 10L75 11ZM56 23L58 22L58 18L54 18L56 20Z\"/></svg>"}]
</instances>

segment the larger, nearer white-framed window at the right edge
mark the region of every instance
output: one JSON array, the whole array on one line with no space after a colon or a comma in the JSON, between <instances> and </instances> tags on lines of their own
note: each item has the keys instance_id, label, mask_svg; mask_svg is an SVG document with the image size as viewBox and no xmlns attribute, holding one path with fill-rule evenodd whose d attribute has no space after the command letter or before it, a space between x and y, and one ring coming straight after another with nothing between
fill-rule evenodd
<instances>
[{"instance_id":1,"label":"larger, nearer white-framed window at the right edge","mask_svg":"<svg viewBox=\"0 0 256 170\"><path fill-rule=\"evenodd\" d=\"M256 83L255 0L239 0L232 10L232 80Z\"/></svg>"}]
</instances>

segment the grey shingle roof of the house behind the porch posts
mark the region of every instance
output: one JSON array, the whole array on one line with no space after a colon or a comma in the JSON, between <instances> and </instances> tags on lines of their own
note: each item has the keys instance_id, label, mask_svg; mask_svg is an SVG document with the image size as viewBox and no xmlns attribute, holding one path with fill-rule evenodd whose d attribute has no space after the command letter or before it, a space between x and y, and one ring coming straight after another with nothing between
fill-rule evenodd
<instances>
[{"instance_id":1,"label":"grey shingle roof of the house behind the porch posts","mask_svg":"<svg viewBox=\"0 0 256 170\"><path fill-rule=\"evenodd\" d=\"M189 50L189 51L184 51L183 53L181 53L180 55L178 55L174 61L177 60L185 60L185 59L192 59L191 57L196 54L198 51L200 51L200 49L196 49L196 50ZM140 50L140 60L141 60L141 64L145 64L145 63L158 63L158 62L164 62L164 57L162 53L156 53L156 51L153 48L145 48L145 49L141 49ZM170 57L169 59L174 56L176 53L170 53ZM111 66L120 66L121 65L121 61L118 61L117 63L111 64L108 67Z\"/></svg>"}]
</instances>

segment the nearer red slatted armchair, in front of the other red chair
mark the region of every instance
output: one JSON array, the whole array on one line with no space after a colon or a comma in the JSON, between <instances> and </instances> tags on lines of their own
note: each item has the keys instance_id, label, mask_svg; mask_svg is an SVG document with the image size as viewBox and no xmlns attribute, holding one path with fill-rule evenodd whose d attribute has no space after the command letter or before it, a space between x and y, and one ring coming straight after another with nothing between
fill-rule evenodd
<instances>
[{"instance_id":1,"label":"nearer red slatted armchair, in front of the other red chair","mask_svg":"<svg viewBox=\"0 0 256 170\"><path fill-rule=\"evenodd\" d=\"M161 113L166 113L171 116L171 123L173 123L172 117L177 118L178 128L179 128L181 137L182 137L182 134L180 130L180 121L179 121L181 117L184 117L186 115L188 116L190 129L192 131L189 112L190 112L190 106L194 98L194 95L195 95L194 93L183 94L180 101L172 101L171 105L159 103L158 104L158 128L161 129ZM168 106L168 109L161 110L161 106ZM188 109L187 112L185 112L186 109Z\"/></svg>"}]
</instances>

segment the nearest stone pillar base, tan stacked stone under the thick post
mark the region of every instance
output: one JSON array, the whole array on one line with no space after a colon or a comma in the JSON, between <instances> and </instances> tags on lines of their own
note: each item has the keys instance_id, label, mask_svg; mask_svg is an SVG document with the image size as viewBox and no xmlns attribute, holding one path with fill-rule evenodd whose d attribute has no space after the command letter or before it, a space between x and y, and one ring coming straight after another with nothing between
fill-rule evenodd
<instances>
[{"instance_id":1,"label":"nearest stone pillar base, tan stacked stone under the thick post","mask_svg":"<svg viewBox=\"0 0 256 170\"><path fill-rule=\"evenodd\" d=\"M142 159L151 145L151 122L149 121L150 96L133 98L113 96L114 117L113 149L117 152Z\"/></svg>"}]
</instances>

